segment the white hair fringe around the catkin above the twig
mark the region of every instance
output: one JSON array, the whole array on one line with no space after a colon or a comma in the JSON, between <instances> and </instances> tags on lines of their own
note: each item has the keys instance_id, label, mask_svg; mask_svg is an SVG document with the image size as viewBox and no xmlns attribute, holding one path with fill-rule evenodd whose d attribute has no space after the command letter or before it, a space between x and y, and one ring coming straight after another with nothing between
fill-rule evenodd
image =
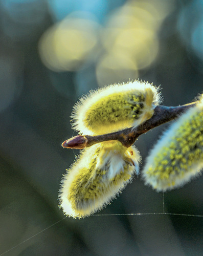
<instances>
[{"instance_id":1,"label":"white hair fringe around the catkin above the twig","mask_svg":"<svg viewBox=\"0 0 203 256\"><path fill-rule=\"evenodd\" d=\"M162 101L161 94L159 92L160 88L155 88L152 83L148 82L143 82L140 80L135 80L135 81L129 81L128 83L118 83L118 84L111 84L110 86L106 86L103 88L100 88L98 90L93 90L90 91L88 94L82 96L79 101L75 104L73 108L73 112L71 115L72 118L72 127L74 130L78 131L79 134L83 135L97 135L97 133L91 131L84 125L84 118L85 118L85 113L89 110L89 108L95 104L97 101L100 99L109 96L111 94L115 93L125 93L131 91L133 92L140 92L142 94L145 93L146 89L150 88L150 90L153 93L153 100L152 100L152 105L151 106L146 106L146 111L147 108L154 109L155 106L159 105L160 102ZM142 115L143 116L143 115ZM142 117L141 117L142 119ZM131 126L136 127L139 125L142 121L136 120L134 123L132 123ZM115 127L111 127L112 124L109 124L109 130L115 130L116 125L121 126L122 129L129 127L129 123L126 121L122 121L114 125ZM116 130L115 130L116 131ZM105 131L108 132L108 131Z\"/></svg>"}]
</instances>

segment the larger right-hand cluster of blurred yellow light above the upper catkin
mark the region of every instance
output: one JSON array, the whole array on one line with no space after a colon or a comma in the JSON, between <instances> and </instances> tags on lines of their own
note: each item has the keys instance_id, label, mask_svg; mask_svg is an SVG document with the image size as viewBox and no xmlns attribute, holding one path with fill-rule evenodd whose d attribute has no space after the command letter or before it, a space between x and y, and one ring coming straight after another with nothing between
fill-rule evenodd
<instances>
[{"instance_id":1,"label":"larger right-hand cluster of blurred yellow light above the upper catkin","mask_svg":"<svg viewBox=\"0 0 203 256\"><path fill-rule=\"evenodd\" d=\"M106 55L97 64L100 86L136 79L139 70L151 65L159 51L157 32L171 6L171 2L160 0L153 3L147 0L127 1L109 16L106 27L101 31Z\"/></svg>"}]
</instances>

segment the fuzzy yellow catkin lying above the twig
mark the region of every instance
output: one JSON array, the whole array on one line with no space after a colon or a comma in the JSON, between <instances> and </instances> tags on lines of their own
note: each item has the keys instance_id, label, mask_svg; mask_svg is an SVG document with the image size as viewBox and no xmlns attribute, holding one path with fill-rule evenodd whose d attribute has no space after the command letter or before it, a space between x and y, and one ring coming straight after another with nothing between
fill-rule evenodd
<instances>
[{"instance_id":1,"label":"fuzzy yellow catkin lying above the twig","mask_svg":"<svg viewBox=\"0 0 203 256\"><path fill-rule=\"evenodd\" d=\"M133 81L92 91L74 106L73 128L83 135L111 133L136 127L149 119L160 103L152 84Z\"/></svg>"}]
</instances>

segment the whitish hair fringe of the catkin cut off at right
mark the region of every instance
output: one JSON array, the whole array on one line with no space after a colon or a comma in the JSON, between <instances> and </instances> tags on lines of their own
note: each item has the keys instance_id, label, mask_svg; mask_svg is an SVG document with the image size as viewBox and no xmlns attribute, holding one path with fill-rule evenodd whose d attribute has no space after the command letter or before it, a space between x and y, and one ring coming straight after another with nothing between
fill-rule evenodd
<instances>
[{"instance_id":1,"label":"whitish hair fringe of the catkin cut off at right","mask_svg":"<svg viewBox=\"0 0 203 256\"><path fill-rule=\"evenodd\" d=\"M148 169L153 167L154 157L159 154L161 148L167 147L171 138L176 133L176 130L179 129L179 126L191 116L193 116L196 112L202 111L203 108L203 97L201 97L199 103L196 106L193 106L186 113L179 116L176 121L170 125L170 127L162 134L161 138L156 142L152 150L150 151L148 157L145 160L145 165L142 170L142 179L145 181L145 185L152 186L157 192L165 192L166 190L171 190L174 188L182 187L186 183L188 183L191 179L194 179L196 176L201 175L200 170L203 168L203 161L199 161L190 166L189 172L184 174L184 177L179 178L175 176L171 176L171 179L175 179L175 184L173 186L168 186L167 181L159 180L156 177L149 177L147 174Z\"/></svg>"}]
</instances>

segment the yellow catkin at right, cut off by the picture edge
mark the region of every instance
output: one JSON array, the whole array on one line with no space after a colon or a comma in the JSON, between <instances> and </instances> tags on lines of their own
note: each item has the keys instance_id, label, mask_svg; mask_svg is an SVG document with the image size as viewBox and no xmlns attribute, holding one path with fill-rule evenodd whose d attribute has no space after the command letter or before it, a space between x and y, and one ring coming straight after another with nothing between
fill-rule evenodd
<instances>
[{"instance_id":1,"label":"yellow catkin at right, cut off by the picture edge","mask_svg":"<svg viewBox=\"0 0 203 256\"><path fill-rule=\"evenodd\" d=\"M203 100L183 114L157 142L142 176L157 191L182 186L203 168Z\"/></svg>"}]
</instances>

